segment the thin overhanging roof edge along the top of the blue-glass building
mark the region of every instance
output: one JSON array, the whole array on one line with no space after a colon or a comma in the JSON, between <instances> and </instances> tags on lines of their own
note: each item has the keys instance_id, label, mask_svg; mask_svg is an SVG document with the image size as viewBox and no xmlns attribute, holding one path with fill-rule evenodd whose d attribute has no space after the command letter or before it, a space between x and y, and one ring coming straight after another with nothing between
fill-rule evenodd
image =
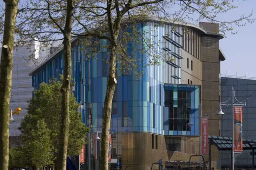
<instances>
[{"instance_id":1,"label":"thin overhanging roof edge along the top of the blue-glass building","mask_svg":"<svg viewBox=\"0 0 256 170\"><path fill-rule=\"evenodd\" d=\"M174 20L168 20L168 21L164 21L164 20L161 20L160 18L158 17L153 17L153 16L146 16L144 19L141 19L139 17L135 17L134 18L135 20L141 20L141 21L157 21L157 22L164 22L164 23L170 23L170 24L177 24L177 25L183 25L183 26L188 26L188 27L192 27L192 28L195 28L199 31L201 31L202 33L206 34L206 35L211 35L211 36L217 36L219 37L220 39L224 38L224 36L222 34L214 34L214 33L207 33L207 31L205 29L203 29L202 27L198 26L198 25L195 25L195 24L191 24L191 23L187 23L187 22L180 22L180 21L174 21ZM125 22L128 22L128 19L125 19L123 21L124 23ZM76 38L73 38L71 40L71 43L74 42L75 40L77 39ZM42 61L40 61L37 65L35 65L35 67L29 72L29 75L31 76L33 72L35 72L38 68L40 68L43 64L45 64L47 61L49 61L52 57L54 57L56 54L58 54L59 52L61 52L63 50L63 47L61 47L59 50L55 51L54 53L52 53L50 56L48 57L45 57L45 59L43 59ZM222 54L222 58L220 57L221 61L224 61L225 60L225 57L224 57L224 53L222 52L222 50L220 49L220 54ZM224 59L223 59L224 58Z\"/></svg>"}]
</instances>

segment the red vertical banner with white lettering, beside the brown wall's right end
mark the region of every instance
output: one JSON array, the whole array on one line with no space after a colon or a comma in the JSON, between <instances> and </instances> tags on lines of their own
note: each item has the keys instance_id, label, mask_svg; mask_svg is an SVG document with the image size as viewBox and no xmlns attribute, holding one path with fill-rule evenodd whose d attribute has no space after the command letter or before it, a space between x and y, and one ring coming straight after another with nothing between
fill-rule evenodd
<instances>
[{"instance_id":1,"label":"red vertical banner with white lettering, beside the brown wall's right end","mask_svg":"<svg viewBox=\"0 0 256 170\"><path fill-rule=\"evenodd\" d=\"M208 118L201 118L201 154L208 154Z\"/></svg>"}]
</instances>

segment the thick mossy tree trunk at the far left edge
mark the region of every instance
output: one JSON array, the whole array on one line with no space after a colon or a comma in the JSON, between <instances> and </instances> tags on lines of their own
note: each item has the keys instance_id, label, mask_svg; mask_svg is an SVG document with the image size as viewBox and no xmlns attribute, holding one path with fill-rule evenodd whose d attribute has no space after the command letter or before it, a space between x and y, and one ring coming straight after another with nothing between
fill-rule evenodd
<instances>
[{"instance_id":1,"label":"thick mossy tree trunk at the far left edge","mask_svg":"<svg viewBox=\"0 0 256 170\"><path fill-rule=\"evenodd\" d=\"M19 0L4 0L5 19L0 63L0 170L9 164L9 109L12 85L12 53Z\"/></svg>"}]
</instances>

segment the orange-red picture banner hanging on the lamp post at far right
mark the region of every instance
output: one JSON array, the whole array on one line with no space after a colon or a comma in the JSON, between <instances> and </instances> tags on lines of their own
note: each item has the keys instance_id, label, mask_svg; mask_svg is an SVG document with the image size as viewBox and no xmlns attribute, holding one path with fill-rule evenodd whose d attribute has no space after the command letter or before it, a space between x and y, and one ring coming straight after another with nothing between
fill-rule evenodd
<instances>
[{"instance_id":1,"label":"orange-red picture banner hanging on the lamp post at far right","mask_svg":"<svg viewBox=\"0 0 256 170\"><path fill-rule=\"evenodd\" d=\"M234 151L243 151L243 107L234 106Z\"/></svg>"}]
</instances>

